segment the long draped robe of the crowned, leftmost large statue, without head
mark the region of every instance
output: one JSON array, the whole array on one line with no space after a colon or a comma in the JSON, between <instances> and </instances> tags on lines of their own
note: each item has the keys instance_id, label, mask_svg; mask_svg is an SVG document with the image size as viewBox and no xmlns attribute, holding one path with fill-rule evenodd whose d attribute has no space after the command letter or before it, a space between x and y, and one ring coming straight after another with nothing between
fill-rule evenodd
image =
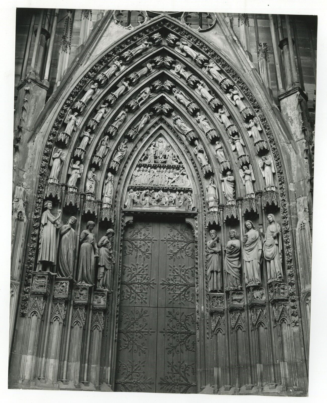
<instances>
[{"instance_id":1,"label":"long draped robe of the crowned, leftmost large statue, without head","mask_svg":"<svg viewBox=\"0 0 327 403\"><path fill-rule=\"evenodd\" d=\"M41 218L41 235L39 244L38 262L49 262L55 265L57 261L57 234L56 228L61 224L53 223L54 217L49 210L45 210Z\"/></svg>"}]
</instances>

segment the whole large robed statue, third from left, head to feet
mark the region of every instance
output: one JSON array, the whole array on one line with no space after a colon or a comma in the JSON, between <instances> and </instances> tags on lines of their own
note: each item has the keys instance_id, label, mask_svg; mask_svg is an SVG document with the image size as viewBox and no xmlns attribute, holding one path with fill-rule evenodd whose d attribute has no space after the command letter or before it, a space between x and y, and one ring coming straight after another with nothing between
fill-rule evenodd
<instances>
[{"instance_id":1,"label":"whole large robed statue, third from left, head to feet","mask_svg":"<svg viewBox=\"0 0 327 403\"><path fill-rule=\"evenodd\" d=\"M86 230L80 234L80 260L78 263L77 285L94 285L95 258L98 257L98 247L93 229L95 223L88 221Z\"/></svg>"}]
</instances>

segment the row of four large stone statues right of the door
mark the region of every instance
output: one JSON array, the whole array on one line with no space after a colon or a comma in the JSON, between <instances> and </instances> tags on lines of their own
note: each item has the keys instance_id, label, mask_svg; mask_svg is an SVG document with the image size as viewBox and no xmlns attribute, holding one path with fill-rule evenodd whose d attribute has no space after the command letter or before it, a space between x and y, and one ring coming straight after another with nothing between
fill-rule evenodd
<instances>
[{"instance_id":1,"label":"row of four large stone statues right of the door","mask_svg":"<svg viewBox=\"0 0 327 403\"><path fill-rule=\"evenodd\" d=\"M245 222L246 233L243 236L243 275L246 287L261 286L260 267L263 258L267 267L268 284L282 283L282 230L273 214L268 214L267 230L255 229L251 220ZM241 289L241 241L237 232L231 230L230 240L224 248L225 258L222 270L222 247L217 232L212 229L207 242L207 280L208 292L222 291L222 272L224 272L224 290Z\"/></svg>"}]
</instances>

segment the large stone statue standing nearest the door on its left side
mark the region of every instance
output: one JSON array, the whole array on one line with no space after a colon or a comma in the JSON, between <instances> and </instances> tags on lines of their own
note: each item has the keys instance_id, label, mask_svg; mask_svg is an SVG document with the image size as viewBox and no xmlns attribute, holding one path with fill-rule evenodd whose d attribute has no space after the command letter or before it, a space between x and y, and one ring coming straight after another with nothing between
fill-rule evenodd
<instances>
[{"instance_id":1,"label":"large stone statue standing nearest the door on its left side","mask_svg":"<svg viewBox=\"0 0 327 403\"><path fill-rule=\"evenodd\" d=\"M110 239L113 237L115 231L108 229L106 235L98 242L99 248L99 263L98 263L98 278L97 289L112 291L111 289L111 275L113 265L115 264L115 257L112 253Z\"/></svg>"}]
</instances>

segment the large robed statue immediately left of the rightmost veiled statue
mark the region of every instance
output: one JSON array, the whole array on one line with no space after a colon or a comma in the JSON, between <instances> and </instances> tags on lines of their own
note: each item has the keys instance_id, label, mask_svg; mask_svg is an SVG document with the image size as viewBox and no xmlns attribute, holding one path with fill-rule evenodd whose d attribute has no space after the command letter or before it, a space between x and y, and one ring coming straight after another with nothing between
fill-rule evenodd
<instances>
[{"instance_id":1,"label":"large robed statue immediately left of the rightmost veiled statue","mask_svg":"<svg viewBox=\"0 0 327 403\"><path fill-rule=\"evenodd\" d=\"M259 232L253 222L245 221L247 233L243 237L243 270L247 287L261 285L260 261L262 254L262 242Z\"/></svg>"}]
</instances>

